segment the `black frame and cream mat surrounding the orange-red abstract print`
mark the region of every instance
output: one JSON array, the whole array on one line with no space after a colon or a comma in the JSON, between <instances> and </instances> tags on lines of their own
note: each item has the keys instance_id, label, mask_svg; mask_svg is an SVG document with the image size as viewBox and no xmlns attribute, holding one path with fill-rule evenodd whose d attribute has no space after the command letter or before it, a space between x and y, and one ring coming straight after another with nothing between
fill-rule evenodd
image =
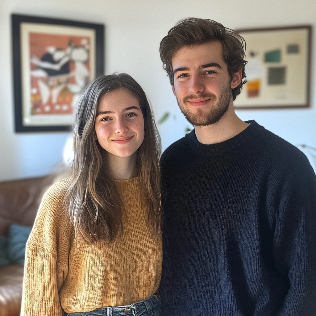
<instances>
[{"instance_id":1,"label":"black frame and cream mat surrounding the orange-red abstract print","mask_svg":"<svg viewBox=\"0 0 316 316\"><path fill-rule=\"evenodd\" d=\"M21 40L25 41L23 39L23 28L22 26L34 26L34 27L54 27L58 26L60 30L63 30L63 27L65 27L65 32L67 32L68 29L73 30L73 32L78 32L80 35L81 32L91 32L93 34L93 47L90 47L90 49L87 49L89 53L88 61L89 65L92 65L92 62L90 60L93 59L93 65L94 67L90 67L89 70L89 80L87 81L91 82L96 77L101 76L104 74L104 25L103 24L94 24L94 23L86 23L86 22L80 22L80 21L71 21L71 20L61 20L61 19L53 19L53 18L46 18L46 17L38 17L38 16L29 16L29 15L18 15L18 14L12 14L11 15L11 21L12 21L12 50L13 50L13 75L14 75L14 102L15 102L15 131L16 132L40 132L40 131L70 131L71 130L71 124L69 122L63 123L58 122L58 118L63 119L63 115L55 115L54 117L57 120L57 123L50 123L45 121L45 117L49 117L46 114L42 115L43 117L43 123L31 123L31 124L25 124L26 121L26 113L25 113L25 104L23 104L23 99L25 100L25 94L23 95L23 91L25 91L25 82L26 82L26 76L23 75L22 71L22 58L24 58L23 54L25 54L24 51L22 51L22 44ZM68 27L68 28L67 28ZM69 28L71 27L71 28ZM40 33L40 32L39 32ZM44 33L43 33L44 34ZM66 34L66 33L65 33ZM54 35L54 34L53 34ZM79 36L78 35L78 36ZM44 35L43 35L44 36ZM60 35L59 35L60 36ZM61 35L63 36L63 35ZM66 36L66 35L64 35ZM76 35L74 35L76 36ZM26 39L26 41L29 41L29 39ZM92 41L91 41L92 43ZM93 48L93 49L92 49ZM92 52L93 58L92 58ZM41 62L41 60L39 59ZM29 61L27 60L29 63ZM25 64L25 63L24 63ZM30 66L28 66L30 68ZM92 69L93 68L93 69ZM31 71L31 70L30 70ZM94 74L93 77L91 74ZM24 76L24 77L23 77ZM30 77L30 76L29 76ZM29 79L31 81L31 79ZM66 79L67 80L67 79ZM87 84L86 84L87 85ZM24 89L24 90L23 90ZM32 92L33 93L33 92ZM30 98L31 100L31 94L27 96L27 98ZM68 99L69 100L69 99ZM31 101L30 101L31 102ZM26 103L26 102L25 102ZM59 106L59 105L58 105ZM59 106L60 107L60 106ZM33 110L32 110L33 111ZM69 110L70 111L70 110ZM56 114L56 113L54 113ZM63 113L61 113L63 114ZM27 113L27 115L29 115ZM67 117L69 118L71 114L69 114ZM51 116L52 117L52 116ZM38 118L40 120L40 118ZM69 120L69 119L68 119Z\"/></svg>"}]
</instances>

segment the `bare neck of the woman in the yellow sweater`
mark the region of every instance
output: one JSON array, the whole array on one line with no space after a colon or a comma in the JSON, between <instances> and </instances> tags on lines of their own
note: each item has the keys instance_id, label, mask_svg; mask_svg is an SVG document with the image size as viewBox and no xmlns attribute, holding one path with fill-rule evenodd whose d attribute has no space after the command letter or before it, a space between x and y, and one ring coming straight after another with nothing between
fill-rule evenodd
<instances>
[{"instance_id":1,"label":"bare neck of the woman in the yellow sweater","mask_svg":"<svg viewBox=\"0 0 316 316\"><path fill-rule=\"evenodd\" d=\"M118 157L107 153L107 161L112 177L116 180L135 178L137 176L136 155L137 152L129 157Z\"/></svg>"}]
</instances>

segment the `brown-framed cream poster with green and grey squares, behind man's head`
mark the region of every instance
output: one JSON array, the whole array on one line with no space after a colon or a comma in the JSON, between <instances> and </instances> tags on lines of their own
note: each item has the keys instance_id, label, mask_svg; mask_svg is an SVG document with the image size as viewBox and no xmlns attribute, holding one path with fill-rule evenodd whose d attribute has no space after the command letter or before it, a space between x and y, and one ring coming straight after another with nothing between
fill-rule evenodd
<instances>
[{"instance_id":1,"label":"brown-framed cream poster with green and grey squares, behind man's head","mask_svg":"<svg viewBox=\"0 0 316 316\"><path fill-rule=\"evenodd\" d=\"M246 84L235 108L308 107L311 27L237 30L246 41Z\"/></svg>"}]
</instances>

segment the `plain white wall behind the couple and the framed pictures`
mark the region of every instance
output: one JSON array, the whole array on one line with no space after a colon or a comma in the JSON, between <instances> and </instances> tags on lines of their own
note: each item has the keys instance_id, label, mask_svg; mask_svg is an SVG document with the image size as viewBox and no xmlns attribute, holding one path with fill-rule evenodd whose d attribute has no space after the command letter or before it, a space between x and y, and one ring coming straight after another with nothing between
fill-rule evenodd
<instances>
[{"instance_id":1,"label":"plain white wall behind the couple and the framed pictures","mask_svg":"<svg viewBox=\"0 0 316 316\"><path fill-rule=\"evenodd\" d=\"M147 93L155 118L172 116L159 131L165 149L190 127L180 113L159 57L159 43L181 18L210 18L233 29L316 24L314 0L0 0L0 180L51 172L61 161L67 133L14 132L10 14L39 15L106 25L106 74L133 76ZM316 33L316 32L314 32ZM316 147L315 36L309 109L239 110L293 144Z\"/></svg>"}]
</instances>

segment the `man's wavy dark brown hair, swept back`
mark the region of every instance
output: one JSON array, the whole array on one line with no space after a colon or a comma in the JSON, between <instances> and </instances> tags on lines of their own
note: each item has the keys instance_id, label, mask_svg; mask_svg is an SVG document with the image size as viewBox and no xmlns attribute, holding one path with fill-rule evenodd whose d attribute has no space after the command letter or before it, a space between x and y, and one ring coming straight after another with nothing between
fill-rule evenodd
<instances>
[{"instance_id":1,"label":"man's wavy dark brown hair, swept back","mask_svg":"<svg viewBox=\"0 0 316 316\"><path fill-rule=\"evenodd\" d=\"M220 41L223 46L223 59L227 64L230 80L233 80L234 74L242 69L242 77L245 74L245 40L233 30L224 27L209 19L186 18L177 23L170 29L160 43L160 57L163 62L163 68L167 71L170 83L173 85L173 70L171 61L176 52L184 46L209 43L211 41ZM241 81L240 85L232 89L233 100L240 94L241 86L246 81Z\"/></svg>"}]
</instances>

